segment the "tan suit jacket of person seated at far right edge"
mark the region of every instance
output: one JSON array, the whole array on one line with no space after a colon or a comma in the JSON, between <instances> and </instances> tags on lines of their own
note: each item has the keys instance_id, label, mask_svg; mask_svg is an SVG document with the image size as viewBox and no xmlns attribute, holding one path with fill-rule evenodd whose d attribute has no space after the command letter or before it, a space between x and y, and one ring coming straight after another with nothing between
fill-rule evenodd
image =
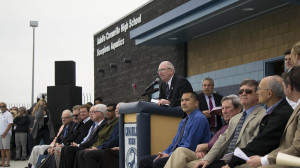
<instances>
[{"instance_id":1,"label":"tan suit jacket of person seated at far right edge","mask_svg":"<svg viewBox=\"0 0 300 168\"><path fill-rule=\"evenodd\" d=\"M287 122L280 145L277 149L268 154L270 164L276 163L278 152L300 157L300 105L292 113Z\"/></svg>"}]
</instances>

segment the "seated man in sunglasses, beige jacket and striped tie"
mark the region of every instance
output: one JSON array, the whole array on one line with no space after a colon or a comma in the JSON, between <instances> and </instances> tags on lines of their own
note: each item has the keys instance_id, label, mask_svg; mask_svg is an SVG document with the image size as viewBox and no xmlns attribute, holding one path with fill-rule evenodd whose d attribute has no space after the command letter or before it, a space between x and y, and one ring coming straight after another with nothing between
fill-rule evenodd
<instances>
[{"instance_id":1,"label":"seated man in sunglasses, beige jacket and striped tie","mask_svg":"<svg viewBox=\"0 0 300 168\"><path fill-rule=\"evenodd\" d=\"M243 112L230 119L228 129L218 138L204 158L189 162L187 167L220 168L226 165L224 160L220 160L225 154L233 152L236 147L245 147L257 135L260 120L266 114L266 110L258 104L257 86L255 80L242 81L239 97Z\"/></svg>"}]
</instances>

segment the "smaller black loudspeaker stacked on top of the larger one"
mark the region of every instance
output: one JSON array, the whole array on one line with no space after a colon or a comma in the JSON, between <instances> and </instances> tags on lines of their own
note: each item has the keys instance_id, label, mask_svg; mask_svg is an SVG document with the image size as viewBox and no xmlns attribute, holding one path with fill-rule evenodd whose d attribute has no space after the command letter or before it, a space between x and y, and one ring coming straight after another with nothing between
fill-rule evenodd
<instances>
[{"instance_id":1,"label":"smaller black loudspeaker stacked on top of the larger one","mask_svg":"<svg viewBox=\"0 0 300 168\"><path fill-rule=\"evenodd\" d=\"M76 86L74 61L55 61L55 86Z\"/></svg>"}]
</instances>

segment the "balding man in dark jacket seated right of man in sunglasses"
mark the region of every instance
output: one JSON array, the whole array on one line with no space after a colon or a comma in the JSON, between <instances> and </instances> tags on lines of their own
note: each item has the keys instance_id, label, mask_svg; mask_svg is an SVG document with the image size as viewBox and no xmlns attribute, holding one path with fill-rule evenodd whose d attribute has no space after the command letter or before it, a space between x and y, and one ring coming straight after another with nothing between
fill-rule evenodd
<instances>
[{"instance_id":1,"label":"balding man in dark jacket seated right of man in sunglasses","mask_svg":"<svg viewBox=\"0 0 300 168\"><path fill-rule=\"evenodd\" d=\"M282 78L268 76L260 82L258 88L259 103L268 106L266 115L260 122L259 132L253 140L241 150L248 156L265 155L279 146L286 123L293 112L285 99ZM233 155L228 165L235 167L246 163L245 160Z\"/></svg>"}]
</instances>

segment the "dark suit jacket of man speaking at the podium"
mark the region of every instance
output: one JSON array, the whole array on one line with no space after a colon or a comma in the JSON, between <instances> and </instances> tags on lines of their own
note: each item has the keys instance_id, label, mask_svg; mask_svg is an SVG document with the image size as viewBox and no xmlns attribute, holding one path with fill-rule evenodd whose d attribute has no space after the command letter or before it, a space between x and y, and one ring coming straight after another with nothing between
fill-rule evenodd
<instances>
[{"instance_id":1,"label":"dark suit jacket of man speaking at the podium","mask_svg":"<svg viewBox=\"0 0 300 168\"><path fill-rule=\"evenodd\" d=\"M166 99L167 83L161 82L159 85L159 99ZM184 92L192 92L190 82L184 77L175 74L171 81L169 101L171 106L180 106L181 97Z\"/></svg>"}]
</instances>

